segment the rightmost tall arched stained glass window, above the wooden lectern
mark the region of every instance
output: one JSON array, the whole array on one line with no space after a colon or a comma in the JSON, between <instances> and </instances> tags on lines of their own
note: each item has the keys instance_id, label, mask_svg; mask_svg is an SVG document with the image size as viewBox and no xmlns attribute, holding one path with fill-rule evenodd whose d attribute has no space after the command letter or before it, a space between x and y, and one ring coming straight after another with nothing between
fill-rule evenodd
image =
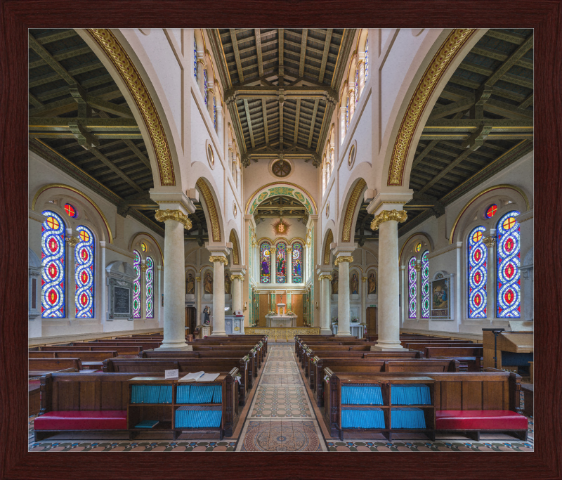
<instances>
[{"instance_id":1,"label":"rightmost tall arched stained glass window, above the wooden lectern","mask_svg":"<svg viewBox=\"0 0 562 480\"><path fill-rule=\"evenodd\" d=\"M497 317L521 316L521 243L519 212L509 212L497 222Z\"/></svg>"}]
</instances>

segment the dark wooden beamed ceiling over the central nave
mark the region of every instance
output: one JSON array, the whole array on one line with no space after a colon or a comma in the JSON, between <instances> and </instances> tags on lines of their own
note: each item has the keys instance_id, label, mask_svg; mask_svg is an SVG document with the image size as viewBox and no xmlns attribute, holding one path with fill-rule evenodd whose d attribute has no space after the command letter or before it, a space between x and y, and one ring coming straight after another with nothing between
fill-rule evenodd
<instances>
[{"instance_id":1,"label":"dark wooden beamed ceiling over the central nave","mask_svg":"<svg viewBox=\"0 0 562 480\"><path fill-rule=\"evenodd\" d=\"M318 167L353 29L207 30L242 163L292 157Z\"/></svg>"}]
</instances>

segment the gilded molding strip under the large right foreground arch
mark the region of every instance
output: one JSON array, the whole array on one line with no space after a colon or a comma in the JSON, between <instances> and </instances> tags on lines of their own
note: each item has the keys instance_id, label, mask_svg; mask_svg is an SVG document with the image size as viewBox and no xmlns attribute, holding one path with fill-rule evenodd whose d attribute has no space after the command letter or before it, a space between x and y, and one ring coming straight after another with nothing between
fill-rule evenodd
<instances>
[{"instance_id":1,"label":"gilded molding strip under the large right foreground arch","mask_svg":"<svg viewBox=\"0 0 562 480\"><path fill-rule=\"evenodd\" d=\"M412 138L416 130L421 114L424 112L431 93L435 89L441 77L447 70L452 60L457 56L461 47L476 32L474 28L457 28L453 30L440 46L439 50L431 59L429 66L421 76L412 99L406 108L404 118L398 129L396 142L392 151L391 164L388 168L387 186L400 187L404 177L404 168Z\"/></svg>"}]
</instances>

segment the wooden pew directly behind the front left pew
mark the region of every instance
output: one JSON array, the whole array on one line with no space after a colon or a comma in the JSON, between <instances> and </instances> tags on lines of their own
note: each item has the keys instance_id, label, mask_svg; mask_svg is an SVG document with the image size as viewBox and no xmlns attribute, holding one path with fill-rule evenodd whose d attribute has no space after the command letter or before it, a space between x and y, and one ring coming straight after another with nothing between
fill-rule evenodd
<instances>
[{"instance_id":1,"label":"wooden pew directly behind the front left pew","mask_svg":"<svg viewBox=\"0 0 562 480\"><path fill-rule=\"evenodd\" d=\"M179 352L177 352L179 353ZM186 352L190 353L190 352ZM223 372L236 368L244 368L240 372L239 401L246 402L247 361L244 358L107 358L103 362L103 372L136 372L140 374L163 373L164 370L179 370L180 377L189 372Z\"/></svg>"}]
</instances>

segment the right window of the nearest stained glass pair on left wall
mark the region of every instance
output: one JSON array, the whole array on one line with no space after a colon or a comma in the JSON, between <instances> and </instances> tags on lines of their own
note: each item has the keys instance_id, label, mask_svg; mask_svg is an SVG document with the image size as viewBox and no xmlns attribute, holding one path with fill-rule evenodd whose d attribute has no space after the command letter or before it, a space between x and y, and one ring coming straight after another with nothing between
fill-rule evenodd
<instances>
[{"instance_id":1,"label":"right window of the nearest stained glass pair on left wall","mask_svg":"<svg viewBox=\"0 0 562 480\"><path fill-rule=\"evenodd\" d=\"M93 318L94 246L93 233L85 226L76 228L79 242L74 247L76 318Z\"/></svg>"}]
</instances>

